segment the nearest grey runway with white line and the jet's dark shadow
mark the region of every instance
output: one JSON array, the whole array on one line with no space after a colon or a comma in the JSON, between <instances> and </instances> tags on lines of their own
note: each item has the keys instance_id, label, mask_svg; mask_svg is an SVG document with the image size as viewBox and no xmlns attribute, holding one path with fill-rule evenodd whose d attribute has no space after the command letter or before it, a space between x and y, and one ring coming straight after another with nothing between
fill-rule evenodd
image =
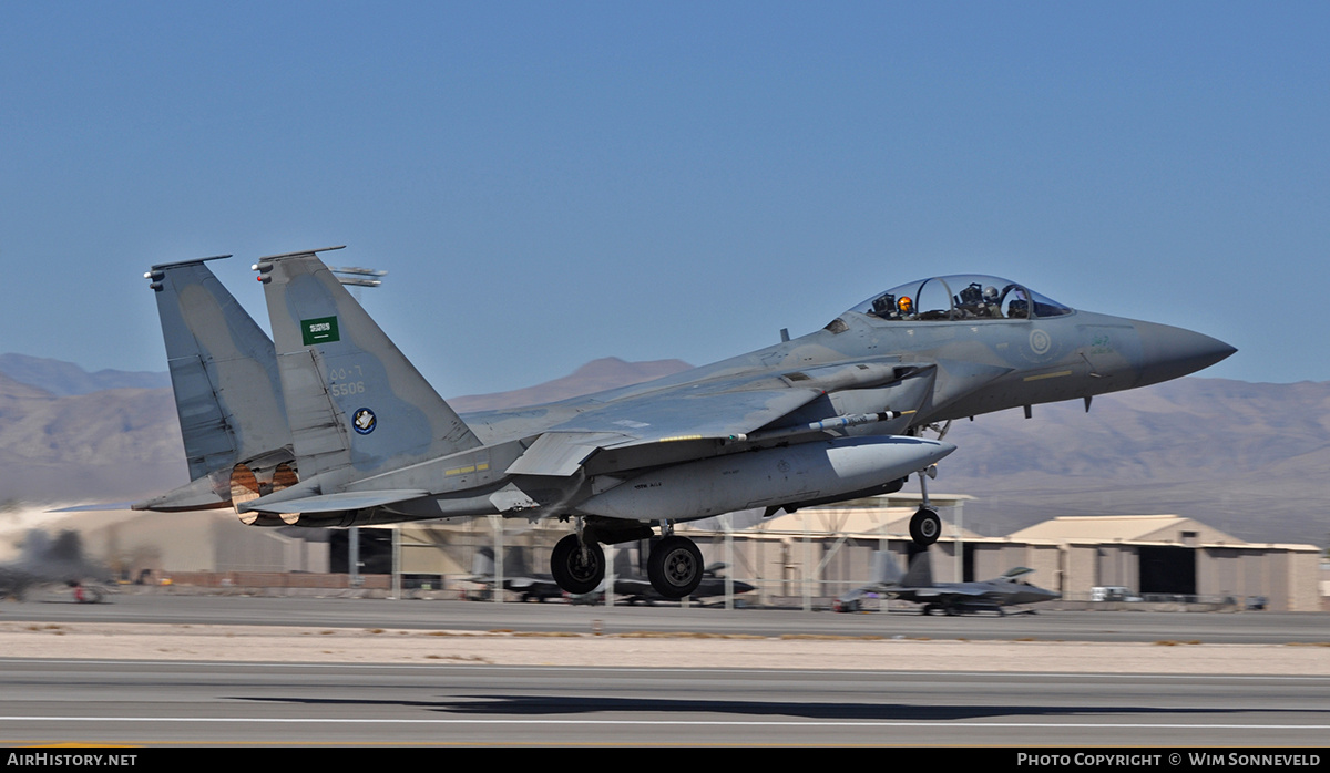
<instances>
[{"instance_id":1,"label":"nearest grey runway with white line and the jet's dark shadow","mask_svg":"<svg viewBox=\"0 0 1330 773\"><path fill-rule=\"evenodd\" d=\"M0 661L7 745L1307 746L1330 679Z\"/></svg>"}]
</instances>

